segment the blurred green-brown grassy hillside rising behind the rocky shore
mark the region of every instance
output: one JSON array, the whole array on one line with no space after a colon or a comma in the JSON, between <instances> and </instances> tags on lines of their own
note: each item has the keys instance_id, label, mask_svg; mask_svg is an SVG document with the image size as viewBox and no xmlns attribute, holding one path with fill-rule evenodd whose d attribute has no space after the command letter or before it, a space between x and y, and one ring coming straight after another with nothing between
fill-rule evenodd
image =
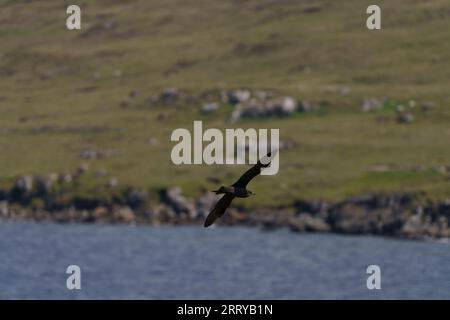
<instances>
[{"instance_id":1,"label":"blurred green-brown grassy hillside rising behind the rocky shore","mask_svg":"<svg viewBox=\"0 0 450 320\"><path fill-rule=\"evenodd\" d=\"M368 191L450 196L448 1L378 1L381 31L366 29L365 0L77 3L81 31L65 28L68 1L0 1L2 183L86 162L121 185L179 185L192 196L215 187L208 177L231 183L243 167L171 163L172 130L198 119L280 128L296 142L281 153L278 175L252 185L261 196L250 205ZM150 105L167 87L271 89L327 107L230 125L230 106L205 116L198 101ZM364 97L382 97L385 107L363 113ZM411 109L414 121L398 124L395 107L410 100L437 107ZM81 159L83 150L107 156ZM380 166L389 170L373 170Z\"/></svg>"}]
</instances>

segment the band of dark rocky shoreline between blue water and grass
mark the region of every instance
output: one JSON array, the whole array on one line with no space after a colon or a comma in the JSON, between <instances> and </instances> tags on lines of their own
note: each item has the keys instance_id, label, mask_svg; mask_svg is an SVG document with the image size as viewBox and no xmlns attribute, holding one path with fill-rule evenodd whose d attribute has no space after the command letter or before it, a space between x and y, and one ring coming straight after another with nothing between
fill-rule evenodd
<instances>
[{"instance_id":1,"label":"band of dark rocky shoreline between blue water and grass","mask_svg":"<svg viewBox=\"0 0 450 320\"><path fill-rule=\"evenodd\" d=\"M108 185L80 195L73 175L24 176L0 189L0 221L201 225L218 197L187 199L178 187L155 192ZM424 200L425 199L425 200ZM372 234L405 239L450 238L450 200L425 194L368 194L342 201L296 200L249 212L232 206L218 224L289 228L294 232Z\"/></svg>"}]
</instances>

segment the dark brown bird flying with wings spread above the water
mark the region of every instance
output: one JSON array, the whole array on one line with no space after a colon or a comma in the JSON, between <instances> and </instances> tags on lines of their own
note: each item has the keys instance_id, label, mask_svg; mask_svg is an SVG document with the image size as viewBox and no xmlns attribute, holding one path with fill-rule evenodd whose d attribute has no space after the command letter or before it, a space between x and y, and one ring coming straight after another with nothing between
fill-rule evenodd
<instances>
[{"instance_id":1,"label":"dark brown bird flying with wings spread above the water","mask_svg":"<svg viewBox=\"0 0 450 320\"><path fill-rule=\"evenodd\" d=\"M208 214L205 220L205 228L209 227L218 218L224 215L225 211L231 204L231 201L236 198L247 198L255 195L252 191L247 189L247 184L257 175L261 173L261 168L267 168L270 165L271 152L264 158L259 160L252 168L247 170L238 181L228 187L220 187L218 190L214 190L216 194L225 194L217 202L214 209Z\"/></svg>"}]
</instances>

